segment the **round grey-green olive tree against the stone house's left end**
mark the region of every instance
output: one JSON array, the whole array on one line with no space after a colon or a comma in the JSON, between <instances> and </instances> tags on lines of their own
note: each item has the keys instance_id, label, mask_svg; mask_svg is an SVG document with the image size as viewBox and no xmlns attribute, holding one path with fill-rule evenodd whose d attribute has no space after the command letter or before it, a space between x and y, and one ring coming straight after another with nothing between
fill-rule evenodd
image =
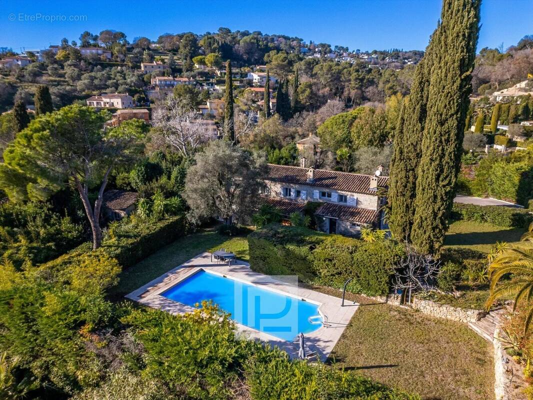
<instances>
[{"instance_id":1,"label":"round grey-green olive tree against the stone house's left end","mask_svg":"<svg viewBox=\"0 0 533 400\"><path fill-rule=\"evenodd\" d=\"M226 225L249 217L259 205L266 161L226 141L211 142L195 157L183 197L193 221L219 217Z\"/></svg>"}]
</instances>

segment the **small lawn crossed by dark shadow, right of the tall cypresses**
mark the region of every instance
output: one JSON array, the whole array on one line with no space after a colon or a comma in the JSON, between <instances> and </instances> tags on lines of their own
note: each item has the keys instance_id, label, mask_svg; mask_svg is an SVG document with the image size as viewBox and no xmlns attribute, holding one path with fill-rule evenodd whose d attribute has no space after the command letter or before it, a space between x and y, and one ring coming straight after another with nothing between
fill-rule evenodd
<instances>
[{"instance_id":1,"label":"small lawn crossed by dark shadow, right of the tall cypresses","mask_svg":"<svg viewBox=\"0 0 533 400\"><path fill-rule=\"evenodd\" d=\"M455 221L446 233L445 246L465 247L488 253L496 242L520 241L525 228L504 228L491 223Z\"/></svg>"}]
</instances>

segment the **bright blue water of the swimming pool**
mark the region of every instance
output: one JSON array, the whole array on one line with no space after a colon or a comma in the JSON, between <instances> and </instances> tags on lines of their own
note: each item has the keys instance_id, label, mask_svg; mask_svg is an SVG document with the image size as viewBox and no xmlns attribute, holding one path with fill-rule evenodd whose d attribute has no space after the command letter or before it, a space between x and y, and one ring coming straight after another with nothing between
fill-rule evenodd
<instances>
[{"instance_id":1,"label":"bright blue water of the swimming pool","mask_svg":"<svg viewBox=\"0 0 533 400\"><path fill-rule=\"evenodd\" d=\"M203 300L213 300L239 324L287 341L300 332L310 333L321 326L309 321L310 317L319 315L316 304L204 270L161 295L192 307ZM321 318L313 321L319 322Z\"/></svg>"}]
</instances>

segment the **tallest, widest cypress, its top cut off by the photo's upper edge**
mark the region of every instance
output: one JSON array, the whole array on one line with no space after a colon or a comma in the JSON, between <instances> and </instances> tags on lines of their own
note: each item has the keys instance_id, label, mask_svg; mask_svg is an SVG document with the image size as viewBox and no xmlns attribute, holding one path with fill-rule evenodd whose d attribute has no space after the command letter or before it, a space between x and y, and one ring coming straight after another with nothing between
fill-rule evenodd
<instances>
[{"instance_id":1,"label":"tallest, widest cypress, its top cut off by the photo's upper edge","mask_svg":"<svg viewBox=\"0 0 533 400\"><path fill-rule=\"evenodd\" d=\"M423 253L438 252L447 220L464 137L472 70L479 36L481 0L444 0L441 25L432 54L422 158L416 180L411 242Z\"/></svg>"}]
</instances>

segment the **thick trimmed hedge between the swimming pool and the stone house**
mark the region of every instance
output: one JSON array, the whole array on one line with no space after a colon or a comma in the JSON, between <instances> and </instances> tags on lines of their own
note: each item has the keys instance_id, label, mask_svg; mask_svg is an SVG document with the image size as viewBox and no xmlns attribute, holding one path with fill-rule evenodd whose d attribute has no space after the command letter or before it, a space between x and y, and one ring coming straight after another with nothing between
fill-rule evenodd
<instances>
[{"instance_id":1,"label":"thick trimmed hedge between the swimming pool and the stone house","mask_svg":"<svg viewBox=\"0 0 533 400\"><path fill-rule=\"evenodd\" d=\"M267 275L298 275L331 287L367 295L387 294L403 246L391 241L366 243L306 228L270 224L248 235L250 266Z\"/></svg>"}]
</instances>

